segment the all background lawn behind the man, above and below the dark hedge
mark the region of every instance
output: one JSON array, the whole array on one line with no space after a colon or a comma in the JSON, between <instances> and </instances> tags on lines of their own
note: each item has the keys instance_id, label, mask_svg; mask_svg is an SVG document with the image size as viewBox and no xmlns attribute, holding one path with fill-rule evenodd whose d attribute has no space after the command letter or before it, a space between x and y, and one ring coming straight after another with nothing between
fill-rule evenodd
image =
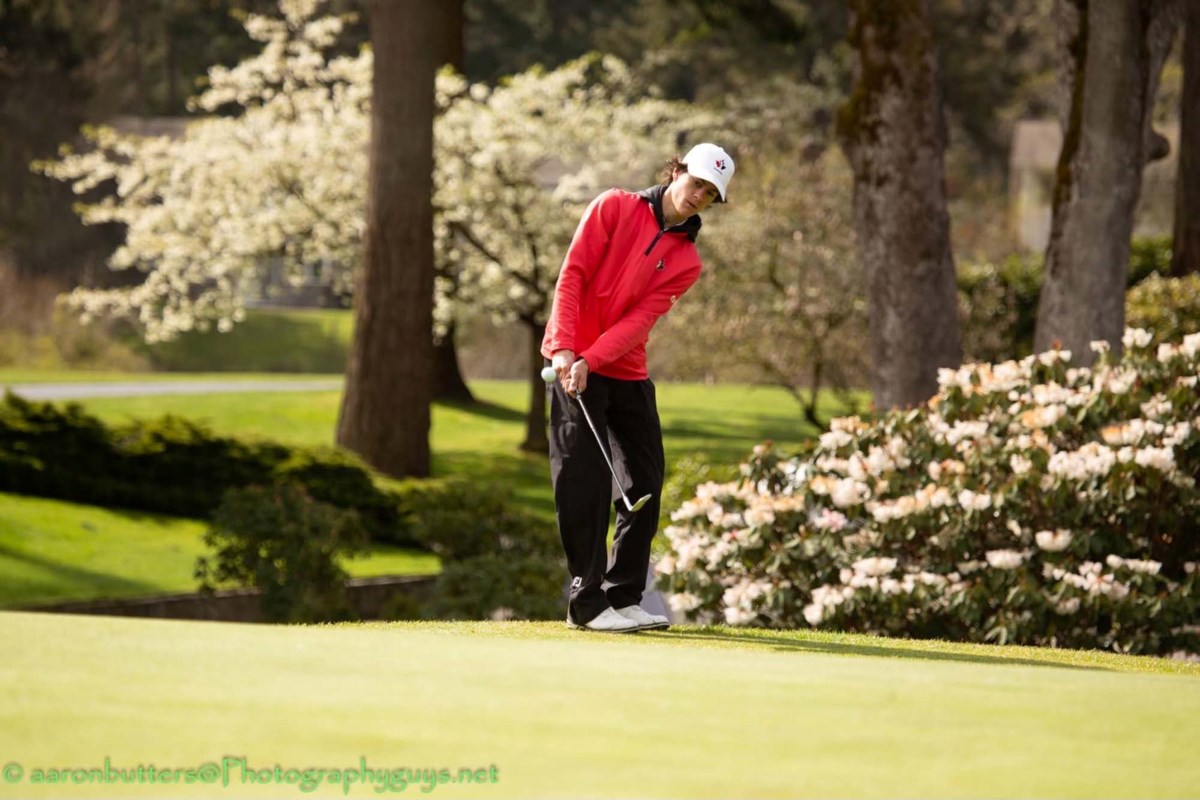
<instances>
[{"instance_id":1,"label":"all background lawn behind the man, above and below the dark hedge","mask_svg":"<svg viewBox=\"0 0 1200 800\"><path fill-rule=\"evenodd\" d=\"M0 373L0 380L8 374ZM548 462L517 449L527 387L518 381L476 381L472 389L478 404L433 409L434 474L497 483L553 524ZM340 401L340 392L325 391L95 398L82 404L108 422L176 414L223 434L331 445ZM685 455L737 464L763 439L788 447L814 434L778 389L665 384L659 387L659 405L668 471ZM200 523L71 504L55 510L50 501L18 500L0 495L0 579L8 578L0 581L0 607L193 588L192 565L203 549ZM97 519L104 521L102 535L88 529ZM367 576L427 575L438 567L428 557L380 551L348 569Z\"/></svg>"}]
</instances>

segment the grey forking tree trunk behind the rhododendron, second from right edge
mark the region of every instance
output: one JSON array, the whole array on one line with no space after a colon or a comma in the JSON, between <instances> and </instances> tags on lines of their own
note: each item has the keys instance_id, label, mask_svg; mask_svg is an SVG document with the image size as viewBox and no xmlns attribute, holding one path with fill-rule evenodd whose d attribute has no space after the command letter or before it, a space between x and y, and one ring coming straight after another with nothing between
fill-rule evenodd
<instances>
[{"instance_id":1,"label":"grey forking tree trunk behind the rhododendron, second from right edge","mask_svg":"<svg viewBox=\"0 0 1200 800\"><path fill-rule=\"evenodd\" d=\"M1121 348L1141 170L1165 155L1151 127L1154 91L1182 0L1057 1L1070 100L1033 344L1087 365L1091 342Z\"/></svg>"}]
</instances>

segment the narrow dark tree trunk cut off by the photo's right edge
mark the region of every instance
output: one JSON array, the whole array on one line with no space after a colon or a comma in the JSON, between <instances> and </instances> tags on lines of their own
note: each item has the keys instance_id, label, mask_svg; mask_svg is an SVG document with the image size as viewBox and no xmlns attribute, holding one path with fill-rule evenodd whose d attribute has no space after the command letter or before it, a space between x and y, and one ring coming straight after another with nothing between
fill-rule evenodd
<instances>
[{"instance_id":1,"label":"narrow dark tree trunk cut off by the photo's right edge","mask_svg":"<svg viewBox=\"0 0 1200 800\"><path fill-rule=\"evenodd\" d=\"M1200 2L1187 4L1171 275L1200 272Z\"/></svg>"}]
</instances>

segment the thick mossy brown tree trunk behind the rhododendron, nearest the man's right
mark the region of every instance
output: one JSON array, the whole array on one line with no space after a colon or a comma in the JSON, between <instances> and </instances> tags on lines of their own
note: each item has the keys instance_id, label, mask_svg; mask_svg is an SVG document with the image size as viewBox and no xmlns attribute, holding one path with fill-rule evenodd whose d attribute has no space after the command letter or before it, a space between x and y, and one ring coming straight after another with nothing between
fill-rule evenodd
<instances>
[{"instance_id":1,"label":"thick mossy brown tree trunk behind the rhododendron, nearest the man's right","mask_svg":"<svg viewBox=\"0 0 1200 800\"><path fill-rule=\"evenodd\" d=\"M851 2L857 74L839 134L854 169L875 408L937 391L962 361L946 210L946 127L928 0Z\"/></svg>"}]
</instances>

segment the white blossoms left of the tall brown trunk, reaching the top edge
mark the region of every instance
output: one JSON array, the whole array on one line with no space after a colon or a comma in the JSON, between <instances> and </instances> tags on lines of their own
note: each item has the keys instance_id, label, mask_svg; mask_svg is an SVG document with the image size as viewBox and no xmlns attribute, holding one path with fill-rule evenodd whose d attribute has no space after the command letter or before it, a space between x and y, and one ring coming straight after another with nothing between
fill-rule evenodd
<instances>
[{"instance_id":1,"label":"white blossoms left of the tall brown trunk, reaching the top edge","mask_svg":"<svg viewBox=\"0 0 1200 800\"><path fill-rule=\"evenodd\" d=\"M184 137L90 128L86 152L41 166L80 194L112 182L115 192L80 215L124 224L109 264L145 273L132 288L72 293L84 319L131 319L151 342L228 330L272 265L292 281L305 265L325 265L329 283L349 290L361 257L372 64L370 53L332 55L343 23L317 18L318 6L282 0L280 18L248 16L262 52L210 70L192 107L211 115Z\"/></svg>"}]
</instances>

